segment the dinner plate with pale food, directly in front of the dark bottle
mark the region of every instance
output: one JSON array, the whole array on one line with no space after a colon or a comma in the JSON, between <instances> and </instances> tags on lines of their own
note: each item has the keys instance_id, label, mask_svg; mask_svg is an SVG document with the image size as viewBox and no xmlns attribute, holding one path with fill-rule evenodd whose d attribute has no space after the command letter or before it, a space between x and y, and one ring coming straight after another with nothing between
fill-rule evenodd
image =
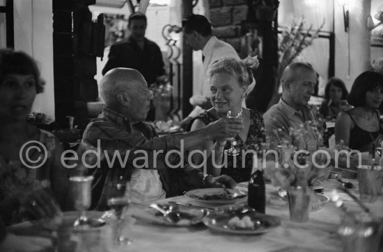
<instances>
[{"instance_id":1,"label":"dinner plate with pale food, directly in front of the dark bottle","mask_svg":"<svg viewBox=\"0 0 383 252\"><path fill-rule=\"evenodd\" d=\"M248 217L254 224L253 228L239 228L229 224L229 221L238 217L241 220ZM211 212L203 218L203 224L211 230L230 233L235 235L260 235L267 233L281 225L281 219L273 215L263 215L256 211L249 211L244 214L238 212Z\"/></svg>"}]
</instances>

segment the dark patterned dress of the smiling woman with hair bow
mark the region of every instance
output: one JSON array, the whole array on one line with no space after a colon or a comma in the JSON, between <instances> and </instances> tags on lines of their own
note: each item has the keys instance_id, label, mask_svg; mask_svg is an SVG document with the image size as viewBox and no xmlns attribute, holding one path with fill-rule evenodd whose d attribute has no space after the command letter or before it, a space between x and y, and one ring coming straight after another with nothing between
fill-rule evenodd
<instances>
[{"instance_id":1,"label":"dark patterned dress of the smiling woman with hair bow","mask_svg":"<svg viewBox=\"0 0 383 252\"><path fill-rule=\"evenodd\" d=\"M194 117L192 121L189 123L188 129L192 127L192 124L195 119L200 119L204 124L208 125L213 121L217 121L218 119L214 117L210 112L206 111L201 113L200 115ZM263 124L263 117L259 112L254 110L250 110L250 127L249 133L247 134L247 139L245 142L236 135L235 141L237 145L235 149L240 150L240 154L238 156L226 156L227 157L227 165L221 169L221 174L226 174L232 177L237 183L249 181L251 176L251 169L253 167L253 156L251 153L246 156L242 155L245 151L253 150L253 151L263 151L264 146L263 143L266 142L265 136L265 126ZM231 142L227 141L224 150L230 149ZM225 153L224 153L225 156ZM244 164L242 164L242 158L244 156ZM259 154L258 154L259 156ZM234 162L236 165L234 165Z\"/></svg>"}]
</instances>

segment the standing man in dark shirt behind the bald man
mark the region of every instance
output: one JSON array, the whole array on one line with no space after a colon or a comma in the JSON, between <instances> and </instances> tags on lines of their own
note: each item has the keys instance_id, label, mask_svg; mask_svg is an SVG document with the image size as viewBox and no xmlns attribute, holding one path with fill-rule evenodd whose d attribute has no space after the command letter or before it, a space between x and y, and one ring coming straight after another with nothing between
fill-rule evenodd
<instances>
[{"instance_id":1,"label":"standing man in dark shirt behind the bald man","mask_svg":"<svg viewBox=\"0 0 383 252\"><path fill-rule=\"evenodd\" d=\"M157 44L145 37L148 22L141 12L135 12L128 19L130 35L127 40L113 44L109 51L108 62L102 69L105 75L110 69L127 67L139 71L148 86L153 83L166 83L166 72L162 53ZM150 104L148 121L155 120L155 108Z\"/></svg>"}]
</instances>

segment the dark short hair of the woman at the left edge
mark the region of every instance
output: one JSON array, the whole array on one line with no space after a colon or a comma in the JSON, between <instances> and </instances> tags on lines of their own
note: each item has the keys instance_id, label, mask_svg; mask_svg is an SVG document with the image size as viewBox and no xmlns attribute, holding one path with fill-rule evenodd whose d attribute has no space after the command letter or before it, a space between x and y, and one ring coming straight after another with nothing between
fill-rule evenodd
<instances>
[{"instance_id":1,"label":"dark short hair of the woman at the left edge","mask_svg":"<svg viewBox=\"0 0 383 252\"><path fill-rule=\"evenodd\" d=\"M8 74L31 74L36 83L36 94L44 91L45 81L40 76L37 63L22 51L0 49L0 83Z\"/></svg>"}]
</instances>

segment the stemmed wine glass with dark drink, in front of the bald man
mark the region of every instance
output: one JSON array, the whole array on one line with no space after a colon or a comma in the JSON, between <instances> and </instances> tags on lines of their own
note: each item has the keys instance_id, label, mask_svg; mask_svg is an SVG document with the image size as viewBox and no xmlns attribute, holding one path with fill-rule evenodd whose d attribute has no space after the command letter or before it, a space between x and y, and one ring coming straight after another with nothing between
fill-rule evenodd
<instances>
[{"instance_id":1,"label":"stemmed wine glass with dark drink, in front of the bald man","mask_svg":"<svg viewBox=\"0 0 383 252\"><path fill-rule=\"evenodd\" d=\"M122 234L123 220L130 205L130 181L120 176L117 181L110 180L107 184L107 203L118 219L115 234L118 244L131 244L132 241Z\"/></svg>"}]
</instances>

